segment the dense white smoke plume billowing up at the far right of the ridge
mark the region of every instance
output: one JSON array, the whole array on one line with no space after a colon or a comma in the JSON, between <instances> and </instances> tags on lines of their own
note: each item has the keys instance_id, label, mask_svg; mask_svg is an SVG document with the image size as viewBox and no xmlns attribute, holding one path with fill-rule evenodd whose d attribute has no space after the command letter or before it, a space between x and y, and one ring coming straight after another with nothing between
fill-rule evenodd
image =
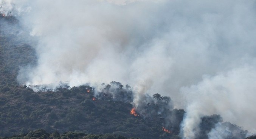
<instances>
[{"instance_id":1,"label":"dense white smoke plume billowing up at the far right of the ridge","mask_svg":"<svg viewBox=\"0 0 256 139\"><path fill-rule=\"evenodd\" d=\"M251 121L255 120L253 110L256 100L256 68L243 66L183 88L187 94L188 107L182 129L185 138L195 138L199 132L200 118L204 115L220 114L224 121L236 123L255 133ZM246 119L246 120L245 120Z\"/></svg>"}]
</instances>

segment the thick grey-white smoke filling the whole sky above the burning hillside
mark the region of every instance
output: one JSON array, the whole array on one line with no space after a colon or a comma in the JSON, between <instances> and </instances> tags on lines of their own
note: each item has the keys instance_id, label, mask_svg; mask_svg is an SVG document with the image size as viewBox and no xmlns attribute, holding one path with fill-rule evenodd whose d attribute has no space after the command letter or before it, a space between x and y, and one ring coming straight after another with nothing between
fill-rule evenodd
<instances>
[{"instance_id":1,"label":"thick grey-white smoke filling the whole sky above the burning hillside","mask_svg":"<svg viewBox=\"0 0 256 139\"><path fill-rule=\"evenodd\" d=\"M119 81L185 108L183 138L211 114L256 131L254 0L0 0L0 12L38 39L21 84Z\"/></svg>"}]
</instances>

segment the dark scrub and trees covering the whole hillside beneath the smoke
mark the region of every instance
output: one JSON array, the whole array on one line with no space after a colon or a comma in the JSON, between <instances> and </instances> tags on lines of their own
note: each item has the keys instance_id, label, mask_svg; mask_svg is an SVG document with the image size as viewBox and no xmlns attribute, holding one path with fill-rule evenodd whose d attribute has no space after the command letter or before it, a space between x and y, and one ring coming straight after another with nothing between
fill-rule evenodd
<instances>
[{"instance_id":1,"label":"dark scrub and trees covering the whole hillside beneath the smoke","mask_svg":"<svg viewBox=\"0 0 256 139\"><path fill-rule=\"evenodd\" d=\"M20 38L14 17L0 16L0 136L5 139L179 139L184 110L173 109L168 96L141 97L138 116L131 115L132 87L120 82L93 87L62 86L38 92L17 82L21 67L36 64L36 52ZM199 139L217 125L228 128L227 139L242 139L247 131L220 115L205 116ZM41 129L39 129L41 128ZM165 129L166 131L163 131ZM15 135L16 134L16 135ZM248 137L254 139L255 136Z\"/></svg>"}]
</instances>

